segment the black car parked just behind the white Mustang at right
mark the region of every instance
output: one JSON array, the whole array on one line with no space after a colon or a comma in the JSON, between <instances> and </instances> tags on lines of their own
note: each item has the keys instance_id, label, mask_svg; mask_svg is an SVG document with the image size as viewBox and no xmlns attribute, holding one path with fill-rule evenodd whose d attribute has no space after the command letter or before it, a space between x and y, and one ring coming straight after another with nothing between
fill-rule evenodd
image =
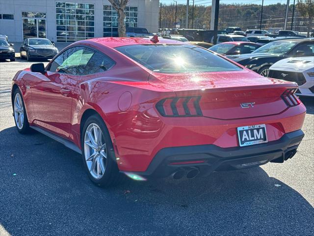
<instances>
[{"instance_id":1,"label":"black car parked just behind the white Mustang at right","mask_svg":"<svg viewBox=\"0 0 314 236\"><path fill-rule=\"evenodd\" d=\"M251 54L227 56L229 59L268 77L269 67L285 58L313 57L314 40L312 39L284 39L270 42Z\"/></svg>"}]
</instances>

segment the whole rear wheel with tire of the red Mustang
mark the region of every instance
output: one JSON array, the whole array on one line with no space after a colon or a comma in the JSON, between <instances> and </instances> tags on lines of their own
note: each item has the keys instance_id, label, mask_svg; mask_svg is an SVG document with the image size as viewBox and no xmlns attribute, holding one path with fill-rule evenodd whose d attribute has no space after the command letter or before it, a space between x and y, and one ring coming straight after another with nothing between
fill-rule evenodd
<instances>
[{"instance_id":1,"label":"whole rear wheel with tire of the red Mustang","mask_svg":"<svg viewBox=\"0 0 314 236\"><path fill-rule=\"evenodd\" d=\"M81 137L83 162L88 177L103 187L117 184L121 174L103 119L98 115L89 117L84 124Z\"/></svg>"}]
</instances>

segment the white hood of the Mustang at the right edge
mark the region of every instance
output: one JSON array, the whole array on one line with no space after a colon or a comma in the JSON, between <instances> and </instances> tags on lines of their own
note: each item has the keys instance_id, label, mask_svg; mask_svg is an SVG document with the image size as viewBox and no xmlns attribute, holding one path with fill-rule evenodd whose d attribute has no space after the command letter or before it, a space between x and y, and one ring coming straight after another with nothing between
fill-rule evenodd
<instances>
[{"instance_id":1,"label":"white hood of the Mustang at the right edge","mask_svg":"<svg viewBox=\"0 0 314 236\"><path fill-rule=\"evenodd\" d=\"M270 69L286 71L306 71L311 68L314 68L314 57L282 59L270 67Z\"/></svg>"}]
</instances>

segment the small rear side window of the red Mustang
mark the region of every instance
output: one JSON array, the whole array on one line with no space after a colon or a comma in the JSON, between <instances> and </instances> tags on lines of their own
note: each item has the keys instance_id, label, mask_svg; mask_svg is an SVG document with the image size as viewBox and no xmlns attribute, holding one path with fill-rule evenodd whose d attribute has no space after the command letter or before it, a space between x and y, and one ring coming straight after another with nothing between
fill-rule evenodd
<instances>
[{"instance_id":1,"label":"small rear side window of the red Mustang","mask_svg":"<svg viewBox=\"0 0 314 236\"><path fill-rule=\"evenodd\" d=\"M82 75L95 74L105 72L115 64L115 61L107 57L105 54L96 52L88 61Z\"/></svg>"}]
</instances>

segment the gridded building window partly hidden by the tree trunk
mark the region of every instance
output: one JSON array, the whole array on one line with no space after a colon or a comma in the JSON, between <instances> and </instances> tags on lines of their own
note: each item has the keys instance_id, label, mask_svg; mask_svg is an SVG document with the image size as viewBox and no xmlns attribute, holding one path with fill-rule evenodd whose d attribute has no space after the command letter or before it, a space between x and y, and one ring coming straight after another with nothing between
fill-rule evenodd
<instances>
[{"instance_id":1,"label":"gridded building window partly hidden by the tree trunk","mask_svg":"<svg viewBox=\"0 0 314 236\"><path fill-rule=\"evenodd\" d=\"M118 36L118 13L112 5L104 5L104 37ZM126 6L126 27L137 27L137 6Z\"/></svg>"}]
</instances>

